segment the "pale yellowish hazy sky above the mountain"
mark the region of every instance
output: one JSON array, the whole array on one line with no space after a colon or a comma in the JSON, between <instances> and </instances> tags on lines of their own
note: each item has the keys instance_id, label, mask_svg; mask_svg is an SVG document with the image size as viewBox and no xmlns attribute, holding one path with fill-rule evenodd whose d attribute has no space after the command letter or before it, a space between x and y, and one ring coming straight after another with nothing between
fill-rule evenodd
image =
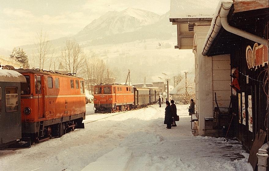
<instances>
[{"instance_id":1,"label":"pale yellowish hazy sky above the mountain","mask_svg":"<svg viewBox=\"0 0 269 171\"><path fill-rule=\"evenodd\" d=\"M33 44L41 29L50 39L74 35L107 11L128 7L161 15L170 0L0 0L0 48Z\"/></svg>"}]
</instances>

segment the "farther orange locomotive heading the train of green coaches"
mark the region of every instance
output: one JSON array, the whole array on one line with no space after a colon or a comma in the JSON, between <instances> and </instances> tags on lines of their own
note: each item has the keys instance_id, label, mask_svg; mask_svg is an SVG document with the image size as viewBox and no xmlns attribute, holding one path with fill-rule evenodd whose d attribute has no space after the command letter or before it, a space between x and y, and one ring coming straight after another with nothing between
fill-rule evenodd
<instances>
[{"instance_id":1,"label":"farther orange locomotive heading the train of green coaches","mask_svg":"<svg viewBox=\"0 0 269 171\"><path fill-rule=\"evenodd\" d=\"M95 113L130 110L134 107L134 88L129 85L94 86Z\"/></svg>"}]
</instances>

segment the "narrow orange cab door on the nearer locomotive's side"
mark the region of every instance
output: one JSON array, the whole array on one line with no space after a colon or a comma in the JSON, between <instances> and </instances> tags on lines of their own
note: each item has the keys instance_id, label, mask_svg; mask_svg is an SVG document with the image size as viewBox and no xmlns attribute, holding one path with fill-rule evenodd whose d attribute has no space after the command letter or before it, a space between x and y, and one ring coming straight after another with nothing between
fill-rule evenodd
<instances>
[{"instance_id":1,"label":"narrow orange cab door on the nearer locomotive's side","mask_svg":"<svg viewBox=\"0 0 269 171\"><path fill-rule=\"evenodd\" d=\"M35 93L38 98L38 117L45 117L45 94L44 94L44 76L35 75Z\"/></svg>"}]
</instances>

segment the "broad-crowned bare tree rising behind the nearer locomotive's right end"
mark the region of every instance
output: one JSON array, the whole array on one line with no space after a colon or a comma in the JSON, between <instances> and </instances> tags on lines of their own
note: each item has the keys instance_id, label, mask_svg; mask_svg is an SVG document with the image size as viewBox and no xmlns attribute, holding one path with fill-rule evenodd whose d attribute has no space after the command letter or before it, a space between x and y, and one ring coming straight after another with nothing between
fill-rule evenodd
<instances>
[{"instance_id":1,"label":"broad-crowned bare tree rising behind the nearer locomotive's right end","mask_svg":"<svg viewBox=\"0 0 269 171\"><path fill-rule=\"evenodd\" d=\"M60 62L62 63L64 69L75 76L84 77L83 72L86 55L83 52L81 46L76 42L76 40L67 40L65 42L65 47L62 49Z\"/></svg>"}]
</instances>

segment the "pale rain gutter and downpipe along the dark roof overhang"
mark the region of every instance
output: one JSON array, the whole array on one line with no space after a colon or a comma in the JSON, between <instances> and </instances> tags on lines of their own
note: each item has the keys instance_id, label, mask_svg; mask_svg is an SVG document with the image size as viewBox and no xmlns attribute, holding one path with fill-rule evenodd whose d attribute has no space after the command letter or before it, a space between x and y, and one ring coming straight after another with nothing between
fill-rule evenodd
<instances>
[{"instance_id":1,"label":"pale rain gutter and downpipe along the dark roof overhang","mask_svg":"<svg viewBox=\"0 0 269 171\"><path fill-rule=\"evenodd\" d=\"M254 42L266 45L268 48L268 40L261 38L259 36L253 35L251 33L248 33L246 31L243 31L241 29L238 29L236 27L232 27L227 22L227 15L230 12L230 9L233 5L233 2L220 2L221 6L217 13L217 16L215 17L215 20L213 18L211 23L211 31L208 32L208 35L206 37L206 42L203 45L203 52L202 55L206 56L208 53L208 50L210 49L214 39L219 33L219 30L221 27L223 27L226 31L233 33L235 35L241 36L243 38L252 40Z\"/></svg>"}]
</instances>

